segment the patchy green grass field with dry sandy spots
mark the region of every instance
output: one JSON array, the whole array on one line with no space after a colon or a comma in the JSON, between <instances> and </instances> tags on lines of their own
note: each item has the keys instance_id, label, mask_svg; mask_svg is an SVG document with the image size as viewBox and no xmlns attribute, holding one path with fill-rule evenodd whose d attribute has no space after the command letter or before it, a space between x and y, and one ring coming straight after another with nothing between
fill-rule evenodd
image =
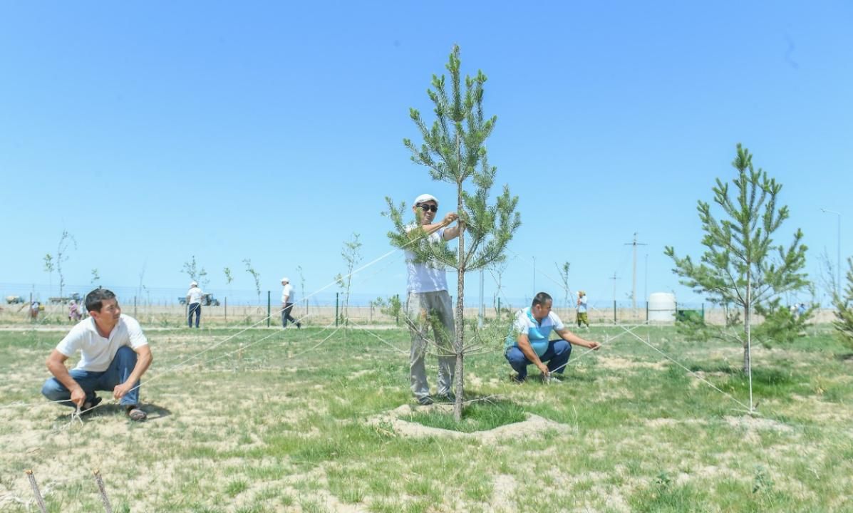
<instances>
[{"instance_id":1,"label":"patchy green grass field with dry sandy spots","mask_svg":"<svg viewBox=\"0 0 853 513\"><path fill-rule=\"evenodd\" d=\"M27 469L49 511L103 510L99 469L116 511L853 511L853 360L828 328L755 349L755 415L739 348L634 332L731 397L617 326L560 383L511 383L496 339L448 432L411 400L405 331L152 330L148 422L109 399L69 424L39 395L62 332L0 331L0 510L37 510Z\"/></svg>"}]
</instances>

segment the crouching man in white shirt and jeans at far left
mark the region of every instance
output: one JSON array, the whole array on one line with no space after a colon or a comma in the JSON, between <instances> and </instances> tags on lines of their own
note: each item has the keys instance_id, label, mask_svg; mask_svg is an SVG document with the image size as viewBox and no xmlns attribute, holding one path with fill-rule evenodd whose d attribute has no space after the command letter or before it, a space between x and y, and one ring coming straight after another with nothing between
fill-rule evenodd
<instances>
[{"instance_id":1,"label":"crouching man in white shirt and jeans at far left","mask_svg":"<svg viewBox=\"0 0 853 513\"><path fill-rule=\"evenodd\" d=\"M96 390L113 392L131 420L145 420L139 407L139 378L151 365L151 349L136 319L121 313L119 300L107 289L86 295L90 318L81 320L47 360L54 375L44 382L42 394L50 401L90 412L101 402ZM80 361L69 372L65 366L80 351Z\"/></svg>"}]
</instances>

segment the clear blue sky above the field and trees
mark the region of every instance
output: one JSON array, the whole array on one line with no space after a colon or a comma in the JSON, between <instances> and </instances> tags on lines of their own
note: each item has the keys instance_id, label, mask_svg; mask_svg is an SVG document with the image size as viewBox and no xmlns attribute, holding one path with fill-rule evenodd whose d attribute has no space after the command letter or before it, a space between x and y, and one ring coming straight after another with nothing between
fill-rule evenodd
<instances>
[{"instance_id":1,"label":"clear blue sky above the field and trees","mask_svg":"<svg viewBox=\"0 0 853 513\"><path fill-rule=\"evenodd\" d=\"M306 291L390 246L384 197L453 191L412 164L409 107L454 43L483 70L498 185L519 195L504 295L561 297L555 262L592 302L675 291L664 245L698 257L696 201L730 179L735 145L784 184L808 272L853 254L853 3L123 2L0 3L0 292L46 296L63 230L66 282L184 291L195 256L207 288L279 279ZM498 188L498 187L496 187ZM518 255L519 257L516 257ZM355 281L403 294L398 254ZM450 280L453 277L450 276ZM468 303L478 293L472 276ZM24 286L26 285L26 286ZM486 296L494 280L485 282ZM298 289L299 290L299 289ZM332 292L334 289L328 289ZM164 295L173 295L172 291ZM328 294L327 294L328 296ZM318 296L319 297L319 296ZM806 300L808 297L802 297ZM819 297L820 299L820 297Z\"/></svg>"}]
</instances>

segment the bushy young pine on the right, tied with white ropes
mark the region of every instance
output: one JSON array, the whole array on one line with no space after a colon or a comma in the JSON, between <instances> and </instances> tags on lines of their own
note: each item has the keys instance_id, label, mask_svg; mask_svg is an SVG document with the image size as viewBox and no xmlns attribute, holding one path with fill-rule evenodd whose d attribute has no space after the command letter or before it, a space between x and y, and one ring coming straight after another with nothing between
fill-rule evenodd
<instances>
[{"instance_id":1,"label":"bushy young pine on the right, tied with white ropes","mask_svg":"<svg viewBox=\"0 0 853 513\"><path fill-rule=\"evenodd\" d=\"M789 216L788 208L778 205L782 185L766 171L755 170L751 153L740 144L732 165L737 170L734 194L729 194L729 184L719 178L713 187L714 203L723 216L718 219L704 201L697 206L706 248L700 262L677 257L671 246L664 253L675 262L673 272L682 278L683 285L705 294L711 303L740 307L743 335L725 329L716 335L743 345L743 372L751 379L753 311L766 318L766 326L757 330L757 342L768 343L766 335L778 327L771 316L780 308L780 297L808 285L806 274L801 272L807 248L800 244L803 232L799 229L789 245L774 245L774 233Z\"/></svg>"}]
</instances>

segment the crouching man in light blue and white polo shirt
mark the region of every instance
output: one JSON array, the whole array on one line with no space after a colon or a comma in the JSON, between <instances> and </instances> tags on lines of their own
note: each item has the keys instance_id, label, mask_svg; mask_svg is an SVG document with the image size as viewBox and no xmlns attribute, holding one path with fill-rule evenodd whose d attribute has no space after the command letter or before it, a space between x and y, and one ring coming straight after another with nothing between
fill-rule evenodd
<instances>
[{"instance_id":1,"label":"crouching man in light blue and white polo shirt","mask_svg":"<svg viewBox=\"0 0 853 513\"><path fill-rule=\"evenodd\" d=\"M548 294L539 292L530 307L515 314L504 344L504 355L518 372L515 381L523 382L527 378L527 366L531 364L537 366L545 378L550 377L551 372L562 374L572 354L571 344L589 349L601 347L601 343L584 340L566 329L560 317L551 311L552 303ZM552 330L560 338L548 340Z\"/></svg>"}]
</instances>

